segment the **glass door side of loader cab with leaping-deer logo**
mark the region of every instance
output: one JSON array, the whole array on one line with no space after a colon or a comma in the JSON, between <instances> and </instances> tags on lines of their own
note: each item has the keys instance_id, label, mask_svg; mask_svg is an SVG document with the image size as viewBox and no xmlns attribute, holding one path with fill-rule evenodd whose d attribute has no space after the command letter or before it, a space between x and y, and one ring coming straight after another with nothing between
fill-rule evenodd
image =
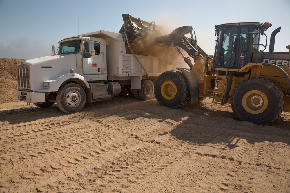
<instances>
[{"instance_id":1,"label":"glass door side of loader cab with leaping-deer logo","mask_svg":"<svg viewBox=\"0 0 290 193\"><path fill-rule=\"evenodd\" d=\"M239 69L251 57L248 53L249 26L219 26L215 47L215 68Z\"/></svg>"}]
</instances>

